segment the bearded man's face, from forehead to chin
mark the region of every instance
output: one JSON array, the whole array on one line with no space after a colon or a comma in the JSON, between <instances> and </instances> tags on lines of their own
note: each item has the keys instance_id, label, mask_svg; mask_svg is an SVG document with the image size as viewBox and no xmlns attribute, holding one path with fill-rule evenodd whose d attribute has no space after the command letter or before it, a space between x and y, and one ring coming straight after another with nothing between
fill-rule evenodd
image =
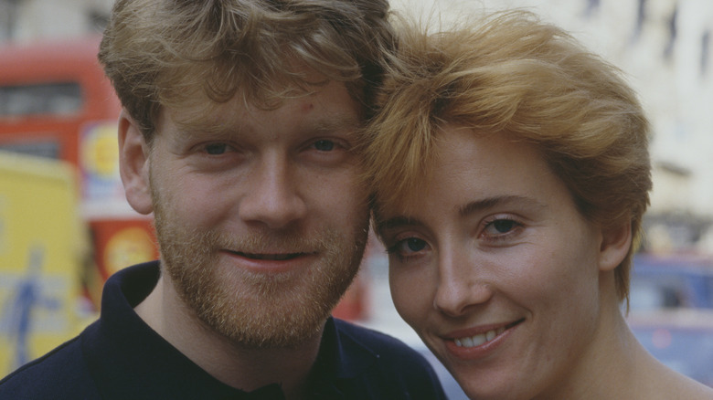
<instances>
[{"instance_id":1,"label":"bearded man's face, from forehead to chin","mask_svg":"<svg viewBox=\"0 0 713 400\"><path fill-rule=\"evenodd\" d=\"M335 82L272 111L238 97L162 113L148 172L162 262L210 329L250 348L320 332L367 240L359 118Z\"/></svg>"}]
</instances>

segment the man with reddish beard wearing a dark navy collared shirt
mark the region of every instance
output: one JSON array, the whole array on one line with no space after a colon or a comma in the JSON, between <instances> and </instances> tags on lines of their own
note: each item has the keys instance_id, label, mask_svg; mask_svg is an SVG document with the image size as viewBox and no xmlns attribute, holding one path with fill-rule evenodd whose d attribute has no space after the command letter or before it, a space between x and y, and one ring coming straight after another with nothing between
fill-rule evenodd
<instances>
[{"instance_id":1,"label":"man with reddish beard wearing a dark navy collared shirt","mask_svg":"<svg viewBox=\"0 0 713 400\"><path fill-rule=\"evenodd\" d=\"M381 0L120 0L100 60L126 197L161 260L0 398L441 398L405 345L329 317L367 240L359 127Z\"/></svg>"}]
</instances>

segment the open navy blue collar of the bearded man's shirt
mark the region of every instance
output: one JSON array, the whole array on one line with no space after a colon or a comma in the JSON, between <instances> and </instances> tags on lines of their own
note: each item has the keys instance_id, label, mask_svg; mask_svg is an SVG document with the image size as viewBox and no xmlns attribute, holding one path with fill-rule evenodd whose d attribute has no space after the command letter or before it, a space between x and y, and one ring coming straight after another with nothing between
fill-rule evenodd
<instances>
[{"instance_id":1,"label":"open navy blue collar of the bearded man's shirt","mask_svg":"<svg viewBox=\"0 0 713 400\"><path fill-rule=\"evenodd\" d=\"M278 384L245 393L219 382L141 320L133 307L154 289L158 277L158 262L153 261L122 269L104 286L101 319L87 329L89 340L82 342L102 393L116 398L283 399ZM351 381L378 359L357 342L345 345L338 334L341 323L326 321L308 383L310 398L343 397Z\"/></svg>"}]
</instances>

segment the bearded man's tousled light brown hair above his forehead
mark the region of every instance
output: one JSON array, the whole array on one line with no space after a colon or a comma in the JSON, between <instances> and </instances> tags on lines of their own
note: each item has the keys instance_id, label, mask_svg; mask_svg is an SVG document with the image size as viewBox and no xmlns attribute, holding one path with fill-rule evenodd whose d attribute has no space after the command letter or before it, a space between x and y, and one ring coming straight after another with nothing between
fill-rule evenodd
<instances>
[{"instance_id":1,"label":"bearded man's tousled light brown hair above his forehead","mask_svg":"<svg viewBox=\"0 0 713 400\"><path fill-rule=\"evenodd\" d=\"M320 83L303 66L366 106L391 42L387 0L118 0L99 59L151 139L161 106L239 93L274 107Z\"/></svg>"}]
</instances>

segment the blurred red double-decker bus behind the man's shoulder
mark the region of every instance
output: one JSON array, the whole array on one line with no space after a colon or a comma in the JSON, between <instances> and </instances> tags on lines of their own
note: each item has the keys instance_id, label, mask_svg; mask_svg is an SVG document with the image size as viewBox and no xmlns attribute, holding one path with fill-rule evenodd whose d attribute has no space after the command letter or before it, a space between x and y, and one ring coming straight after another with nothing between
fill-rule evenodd
<instances>
[{"instance_id":1,"label":"blurred red double-decker bus behind the man's shoulder","mask_svg":"<svg viewBox=\"0 0 713 400\"><path fill-rule=\"evenodd\" d=\"M76 167L92 252L80 279L97 306L109 275L158 257L150 219L124 197L116 136L121 105L97 61L99 41L0 47L0 151Z\"/></svg>"}]
</instances>

